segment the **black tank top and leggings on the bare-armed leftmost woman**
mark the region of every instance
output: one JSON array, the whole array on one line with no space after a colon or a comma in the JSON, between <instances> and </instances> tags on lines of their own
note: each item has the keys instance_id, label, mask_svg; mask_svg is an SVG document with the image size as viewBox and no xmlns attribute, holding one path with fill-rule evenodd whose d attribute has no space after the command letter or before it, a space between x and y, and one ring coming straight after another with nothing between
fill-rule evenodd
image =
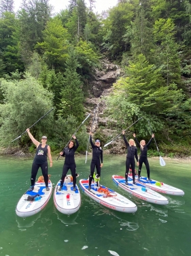
<instances>
[{"instance_id":1,"label":"black tank top and leggings on the bare-armed leftmost woman","mask_svg":"<svg viewBox=\"0 0 191 256\"><path fill-rule=\"evenodd\" d=\"M35 158L33 160L32 171L31 171L31 186L35 186L35 180L39 167L41 167L42 175L44 176L44 182L48 186L48 145L41 147L41 144L37 147Z\"/></svg>"}]
</instances>

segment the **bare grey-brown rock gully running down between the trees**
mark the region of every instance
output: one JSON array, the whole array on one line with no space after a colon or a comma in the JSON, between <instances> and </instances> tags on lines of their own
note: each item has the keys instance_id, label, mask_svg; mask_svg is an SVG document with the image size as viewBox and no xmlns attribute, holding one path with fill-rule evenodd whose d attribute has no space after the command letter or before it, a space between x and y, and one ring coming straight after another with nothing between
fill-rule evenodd
<instances>
[{"instance_id":1,"label":"bare grey-brown rock gully running down between the trees","mask_svg":"<svg viewBox=\"0 0 191 256\"><path fill-rule=\"evenodd\" d=\"M102 147L105 143L112 141L112 139L121 132L118 129L115 130L116 121L109 119L105 114L105 110L107 109L105 96L111 94L112 85L116 83L119 76L120 68L105 60L103 62L103 70L96 70L94 74L94 81L91 83L92 97L86 99L86 109L88 113L92 112L92 118L90 118L87 132L90 132L92 127L92 132L101 139ZM124 154L126 152L126 146L124 145L122 137L118 138L108 147L104 147L104 152L110 154Z\"/></svg>"}]
</instances>

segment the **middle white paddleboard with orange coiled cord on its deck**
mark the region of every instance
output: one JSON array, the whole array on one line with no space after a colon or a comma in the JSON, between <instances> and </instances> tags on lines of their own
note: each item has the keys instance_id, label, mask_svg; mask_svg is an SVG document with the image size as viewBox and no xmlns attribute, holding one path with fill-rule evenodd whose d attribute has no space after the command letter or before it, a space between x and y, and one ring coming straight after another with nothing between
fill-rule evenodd
<instances>
[{"instance_id":1,"label":"middle white paddleboard with orange coiled cord on its deck","mask_svg":"<svg viewBox=\"0 0 191 256\"><path fill-rule=\"evenodd\" d=\"M133 213L137 211L137 205L126 197L105 186L99 188L94 185L93 183L91 189L88 190L89 180L80 180L80 187L83 192L101 205L119 212Z\"/></svg>"}]
</instances>

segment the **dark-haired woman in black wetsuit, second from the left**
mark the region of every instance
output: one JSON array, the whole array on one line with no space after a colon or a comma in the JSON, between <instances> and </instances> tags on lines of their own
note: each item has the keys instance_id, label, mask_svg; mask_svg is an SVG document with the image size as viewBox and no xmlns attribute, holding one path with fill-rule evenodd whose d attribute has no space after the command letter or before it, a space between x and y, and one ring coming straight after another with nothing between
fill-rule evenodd
<instances>
[{"instance_id":1,"label":"dark-haired woman in black wetsuit, second from the left","mask_svg":"<svg viewBox=\"0 0 191 256\"><path fill-rule=\"evenodd\" d=\"M65 181L65 177L67 175L67 172L69 171L69 169L71 170L71 175L73 177L73 191L76 190L75 188L75 184L76 184L76 173L75 173L75 169L76 169L76 165L75 165L75 158L74 158L74 154L75 151L77 150L77 147L79 147L79 143L75 137L75 135L72 136L73 139L75 139L75 143L74 141L70 141L69 145L67 145L67 147L65 147L65 149L60 152L60 156L65 156L65 163L63 166L63 174L62 177L60 179L60 188L58 188L58 190L62 190L63 188L63 183Z\"/></svg>"}]
</instances>

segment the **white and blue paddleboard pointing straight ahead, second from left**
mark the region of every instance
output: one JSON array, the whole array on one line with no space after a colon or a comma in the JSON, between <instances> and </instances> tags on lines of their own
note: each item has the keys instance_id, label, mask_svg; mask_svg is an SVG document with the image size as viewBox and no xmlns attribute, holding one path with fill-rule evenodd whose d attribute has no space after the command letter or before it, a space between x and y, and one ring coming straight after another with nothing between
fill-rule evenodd
<instances>
[{"instance_id":1,"label":"white and blue paddleboard pointing straight ahead, second from left","mask_svg":"<svg viewBox=\"0 0 191 256\"><path fill-rule=\"evenodd\" d=\"M73 182L64 183L62 190L58 190L60 181L54 189L54 205L59 212L63 214L73 214L80 208L81 197L80 190L75 185L76 190L73 191Z\"/></svg>"}]
</instances>

